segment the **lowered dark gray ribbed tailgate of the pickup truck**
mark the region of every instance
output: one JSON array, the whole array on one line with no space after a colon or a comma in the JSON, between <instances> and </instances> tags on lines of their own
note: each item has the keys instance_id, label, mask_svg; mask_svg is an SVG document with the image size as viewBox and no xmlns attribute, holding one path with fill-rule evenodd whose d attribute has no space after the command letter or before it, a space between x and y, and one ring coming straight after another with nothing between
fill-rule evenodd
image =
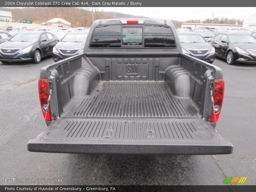
<instances>
[{"instance_id":1,"label":"lowered dark gray ribbed tailgate of the pickup truck","mask_svg":"<svg viewBox=\"0 0 256 192\"><path fill-rule=\"evenodd\" d=\"M54 121L28 150L100 154L230 154L233 146L204 120L79 119Z\"/></svg>"}]
</instances>

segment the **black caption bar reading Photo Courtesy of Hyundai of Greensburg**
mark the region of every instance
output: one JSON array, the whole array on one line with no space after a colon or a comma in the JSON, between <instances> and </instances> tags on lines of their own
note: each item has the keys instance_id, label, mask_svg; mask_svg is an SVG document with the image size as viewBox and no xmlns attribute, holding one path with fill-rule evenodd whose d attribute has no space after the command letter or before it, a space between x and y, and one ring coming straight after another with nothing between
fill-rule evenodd
<instances>
[{"instance_id":1,"label":"black caption bar reading Photo Courtesy of Hyundai of Greensburg","mask_svg":"<svg viewBox=\"0 0 256 192\"><path fill-rule=\"evenodd\" d=\"M1 192L252 192L256 191L256 186L246 185L226 185L219 186L145 186L145 185L105 185L105 186L85 186L85 185L2 185Z\"/></svg>"}]
</instances>

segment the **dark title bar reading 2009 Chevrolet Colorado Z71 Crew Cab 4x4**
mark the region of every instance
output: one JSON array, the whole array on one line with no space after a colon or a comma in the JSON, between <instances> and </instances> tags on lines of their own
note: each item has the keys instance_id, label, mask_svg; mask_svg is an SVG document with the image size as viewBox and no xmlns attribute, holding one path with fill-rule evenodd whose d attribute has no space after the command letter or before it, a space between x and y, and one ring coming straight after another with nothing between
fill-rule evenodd
<instances>
[{"instance_id":1,"label":"dark title bar reading 2009 Chevrolet Colorado Z71 Crew Cab 4x4","mask_svg":"<svg viewBox=\"0 0 256 192\"><path fill-rule=\"evenodd\" d=\"M254 7L252 0L1 0L1 7ZM186 14L186 13L184 13Z\"/></svg>"}]
</instances>

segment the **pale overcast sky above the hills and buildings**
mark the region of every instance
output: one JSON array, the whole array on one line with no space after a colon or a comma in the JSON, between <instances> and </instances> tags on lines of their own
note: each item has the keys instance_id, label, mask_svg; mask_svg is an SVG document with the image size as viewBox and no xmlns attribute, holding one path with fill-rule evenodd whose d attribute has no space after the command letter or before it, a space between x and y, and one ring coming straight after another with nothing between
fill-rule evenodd
<instances>
[{"instance_id":1,"label":"pale overcast sky above the hills and buildings","mask_svg":"<svg viewBox=\"0 0 256 192\"><path fill-rule=\"evenodd\" d=\"M99 10L179 21L212 19L212 12L214 17L246 20L256 13L255 7L99 7Z\"/></svg>"}]
</instances>

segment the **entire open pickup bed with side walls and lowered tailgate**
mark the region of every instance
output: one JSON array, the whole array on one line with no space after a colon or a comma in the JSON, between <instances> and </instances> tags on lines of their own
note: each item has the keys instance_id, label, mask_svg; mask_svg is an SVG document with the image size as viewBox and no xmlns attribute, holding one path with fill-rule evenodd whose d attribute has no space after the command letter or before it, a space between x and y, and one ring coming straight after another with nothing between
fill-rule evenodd
<instances>
[{"instance_id":1,"label":"entire open pickup bed with side walls and lowered tailgate","mask_svg":"<svg viewBox=\"0 0 256 192\"><path fill-rule=\"evenodd\" d=\"M232 144L208 122L212 75L221 75L217 70L183 54L152 58L152 54L102 52L46 66L41 78L48 78L53 87L54 121L28 142L28 150L232 153Z\"/></svg>"}]
</instances>

